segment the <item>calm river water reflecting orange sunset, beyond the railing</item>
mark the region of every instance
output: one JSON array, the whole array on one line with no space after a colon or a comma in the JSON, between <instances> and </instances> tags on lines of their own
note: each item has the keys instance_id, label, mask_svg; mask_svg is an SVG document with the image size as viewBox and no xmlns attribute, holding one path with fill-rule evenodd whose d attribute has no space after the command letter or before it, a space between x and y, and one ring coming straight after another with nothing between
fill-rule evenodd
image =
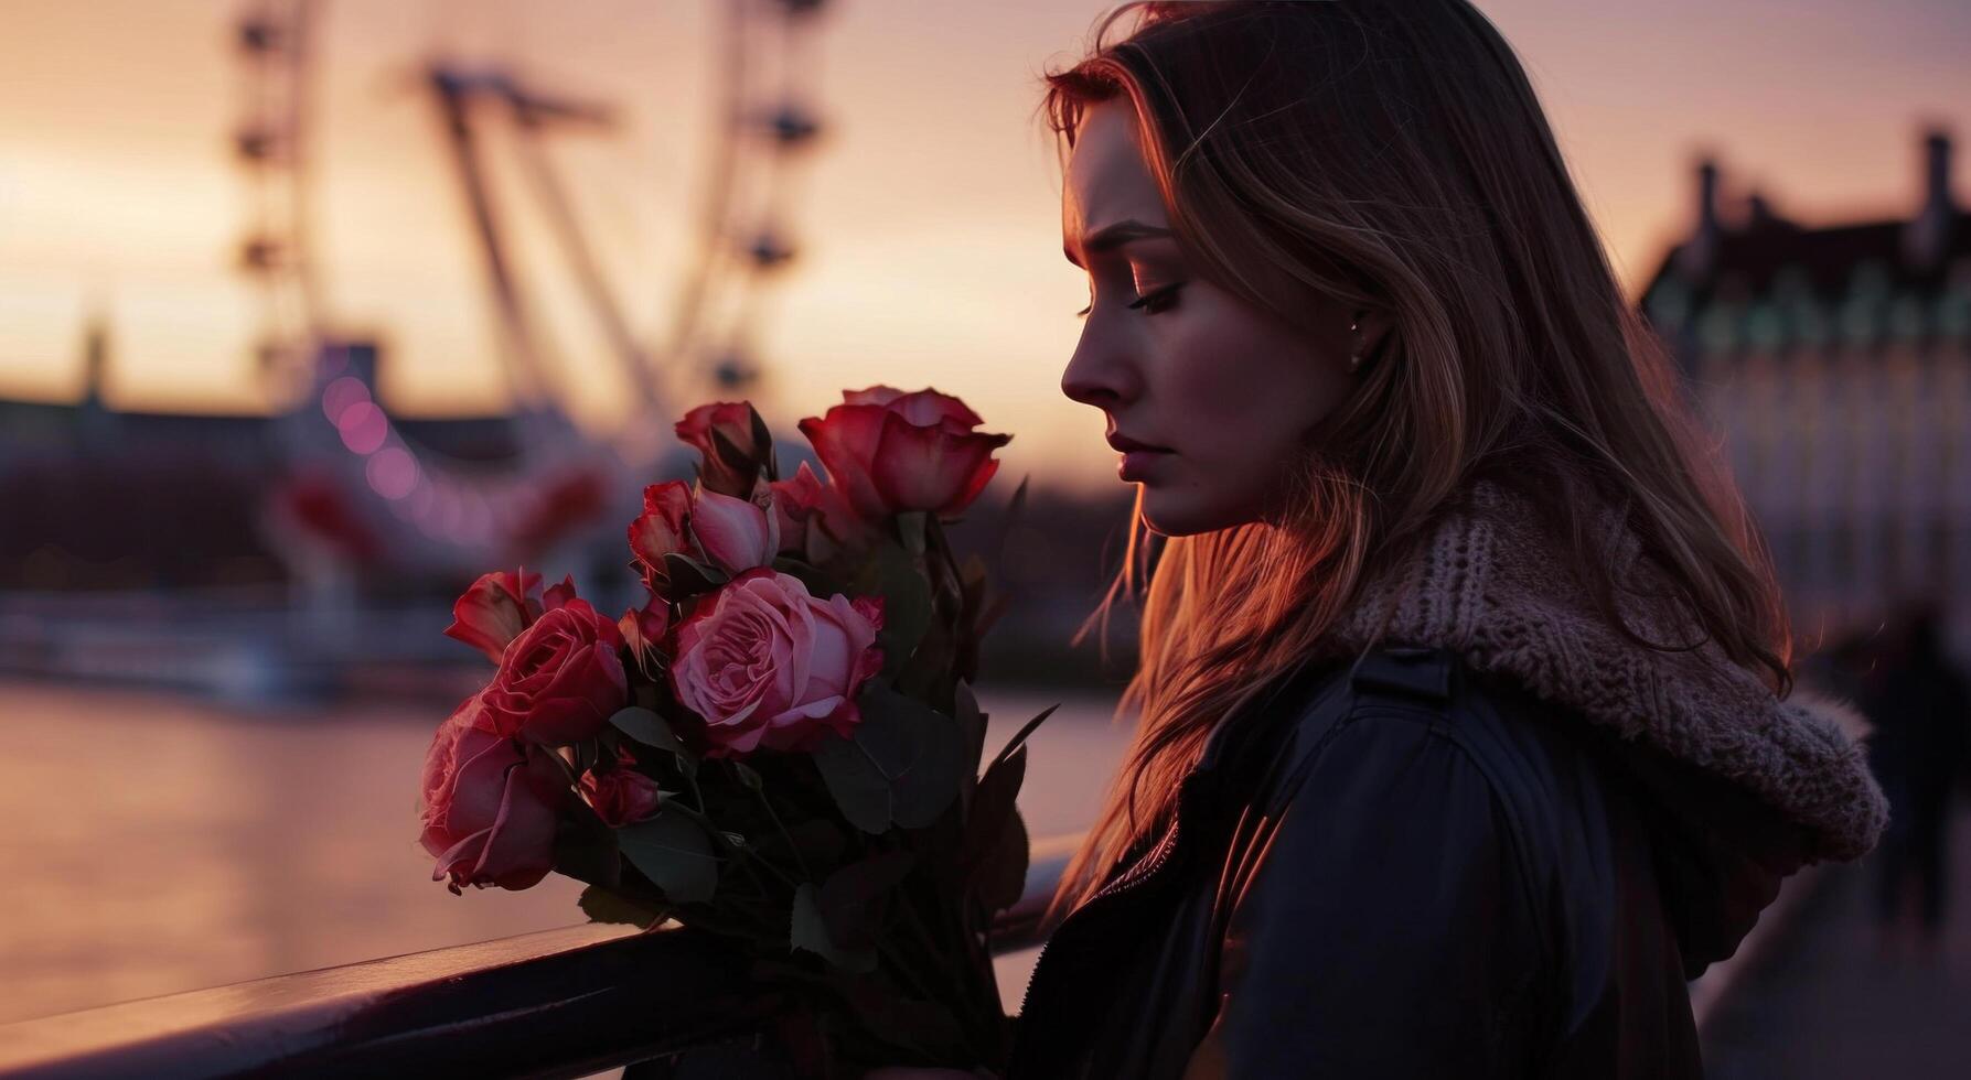
<instances>
[{"instance_id":1,"label":"calm river water reflecting orange sunset, beyond the railing","mask_svg":"<svg viewBox=\"0 0 1971 1080\"><path fill-rule=\"evenodd\" d=\"M1035 838L1074 832L1125 731L1096 696L982 694L1033 739ZM238 708L0 682L0 1023L581 922L581 885L432 881L418 771L443 706Z\"/></svg>"}]
</instances>

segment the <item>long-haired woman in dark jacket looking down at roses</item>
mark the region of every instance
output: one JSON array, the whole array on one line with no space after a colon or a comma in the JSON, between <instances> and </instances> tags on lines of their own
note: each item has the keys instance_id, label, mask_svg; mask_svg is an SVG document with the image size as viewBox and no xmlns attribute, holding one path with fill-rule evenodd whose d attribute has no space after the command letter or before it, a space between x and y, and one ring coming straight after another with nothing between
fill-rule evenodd
<instances>
[{"instance_id":1,"label":"long-haired woman in dark jacket looking down at roses","mask_svg":"<svg viewBox=\"0 0 1971 1080\"><path fill-rule=\"evenodd\" d=\"M1133 4L1047 81L1149 570L1011 1074L1699 1076L1685 979L1884 804L1512 49Z\"/></svg>"}]
</instances>

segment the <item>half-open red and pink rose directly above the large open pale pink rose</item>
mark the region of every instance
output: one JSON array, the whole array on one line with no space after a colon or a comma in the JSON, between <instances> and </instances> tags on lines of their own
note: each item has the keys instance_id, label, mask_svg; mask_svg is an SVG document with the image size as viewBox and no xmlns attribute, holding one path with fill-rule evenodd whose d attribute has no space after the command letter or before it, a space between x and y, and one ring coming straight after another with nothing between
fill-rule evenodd
<instances>
[{"instance_id":1,"label":"half-open red and pink rose directly above the large open pale pink rose","mask_svg":"<svg viewBox=\"0 0 1971 1080\"><path fill-rule=\"evenodd\" d=\"M682 481L654 483L643 493L643 514L629 526L629 546L650 589L664 583L664 556L676 552L725 574L767 566L781 548L781 526L761 503L733 499Z\"/></svg>"}]
</instances>

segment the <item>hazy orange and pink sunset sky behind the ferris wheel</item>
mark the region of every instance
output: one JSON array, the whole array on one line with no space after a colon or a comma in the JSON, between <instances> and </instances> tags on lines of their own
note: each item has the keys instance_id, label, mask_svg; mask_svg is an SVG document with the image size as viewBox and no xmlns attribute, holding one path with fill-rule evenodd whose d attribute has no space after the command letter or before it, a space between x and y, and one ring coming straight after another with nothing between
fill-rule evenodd
<instances>
[{"instance_id":1,"label":"hazy orange and pink sunset sky behind the ferris wheel","mask_svg":"<svg viewBox=\"0 0 1971 1080\"><path fill-rule=\"evenodd\" d=\"M1112 475L1098 416L1058 394L1086 286L1060 256L1058 175L1033 120L1039 73L1072 61L1104 8L822 12L814 104L832 130L802 173L800 260L761 337L769 380L755 398L779 424L842 386L928 382L1015 432L1015 475ZM1721 156L1727 197L1756 183L1780 213L1823 223L1914 205L1922 122L1955 128L1959 150L1971 138L1963 0L1480 8L1528 63L1632 290L1689 221L1699 148ZM266 406L250 357L258 305L233 272L246 223L229 156L244 110L238 10L0 0L0 394L73 400L81 325L101 311L112 402ZM715 122L715 12L710 0L327 2L315 132L327 317L388 341L386 406L505 404L465 211L430 104L406 87L420 59L503 61L615 102L615 134L558 138L554 156L637 327L662 339ZM514 205L554 384L597 430L635 420L534 217Z\"/></svg>"}]
</instances>

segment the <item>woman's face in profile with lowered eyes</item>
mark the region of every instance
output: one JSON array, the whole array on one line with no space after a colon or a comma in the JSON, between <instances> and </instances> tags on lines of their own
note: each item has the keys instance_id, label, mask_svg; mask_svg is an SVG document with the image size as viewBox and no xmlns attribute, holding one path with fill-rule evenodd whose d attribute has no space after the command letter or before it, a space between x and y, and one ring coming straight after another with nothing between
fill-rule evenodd
<instances>
[{"instance_id":1,"label":"woman's face in profile with lowered eyes","mask_svg":"<svg viewBox=\"0 0 1971 1080\"><path fill-rule=\"evenodd\" d=\"M1309 430L1348 396L1382 321L1309 298L1319 333L1198 278L1169 233L1125 99L1084 116L1060 199L1090 305L1060 390L1108 418L1123 481L1165 536L1269 516Z\"/></svg>"}]
</instances>

